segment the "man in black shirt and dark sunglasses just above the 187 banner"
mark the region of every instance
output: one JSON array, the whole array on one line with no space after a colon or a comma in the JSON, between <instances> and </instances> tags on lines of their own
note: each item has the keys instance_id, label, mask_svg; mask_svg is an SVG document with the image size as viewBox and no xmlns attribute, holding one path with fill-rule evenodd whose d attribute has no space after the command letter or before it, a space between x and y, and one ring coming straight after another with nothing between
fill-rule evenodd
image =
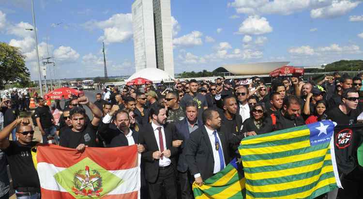
<instances>
[{"instance_id":1,"label":"man in black shirt and dark sunglasses just above the 187 banner","mask_svg":"<svg viewBox=\"0 0 363 199\"><path fill-rule=\"evenodd\" d=\"M338 124L353 124L357 122L360 110L357 109L359 101L358 92L351 88L343 91L342 103L328 111L328 119Z\"/></svg>"}]
</instances>

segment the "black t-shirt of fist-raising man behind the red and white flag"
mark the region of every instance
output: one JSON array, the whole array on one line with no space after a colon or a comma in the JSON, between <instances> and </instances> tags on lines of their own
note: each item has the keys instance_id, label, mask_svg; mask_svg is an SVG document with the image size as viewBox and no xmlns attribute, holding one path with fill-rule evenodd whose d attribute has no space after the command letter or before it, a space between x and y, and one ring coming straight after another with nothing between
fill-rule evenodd
<instances>
[{"instance_id":1,"label":"black t-shirt of fist-raising man behind the red and white flag","mask_svg":"<svg viewBox=\"0 0 363 199\"><path fill-rule=\"evenodd\" d=\"M86 124L85 124L86 125ZM89 147L97 147L96 132L98 127L88 123L82 132L75 132L71 128L65 128L61 132L60 146L76 149L79 144Z\"/></svg>"}]
</instances>

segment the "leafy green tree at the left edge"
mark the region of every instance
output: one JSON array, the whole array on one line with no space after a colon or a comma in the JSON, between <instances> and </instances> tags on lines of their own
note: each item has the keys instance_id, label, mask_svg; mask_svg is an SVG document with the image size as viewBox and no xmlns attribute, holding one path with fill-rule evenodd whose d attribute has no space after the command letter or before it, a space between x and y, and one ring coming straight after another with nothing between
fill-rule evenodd
<instances>
[{"instance_id":1,"label":"leafy green tree at the left edge","mask_svg":"<svg viewBox=\"0 0 363 199\"><path fill-rule=\"evenodd\" d=\"M29 79L30 72L20 49L0 42L0 89L11 82L26 85Z\"/></svg>"}]
</instances>

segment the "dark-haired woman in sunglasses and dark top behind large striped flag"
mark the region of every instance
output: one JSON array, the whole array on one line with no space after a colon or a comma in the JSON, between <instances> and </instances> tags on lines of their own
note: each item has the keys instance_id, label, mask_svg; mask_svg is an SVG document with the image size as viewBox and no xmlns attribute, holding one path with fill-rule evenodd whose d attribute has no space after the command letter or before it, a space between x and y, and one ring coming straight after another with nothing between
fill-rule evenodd
<instances>
[{"instance_id":1,"label":"dark-haired woman in sunglasses and dark top behind large striped flag","mask_svg":"<svg viewBox=\"0 0 363 199\"><path fill-rule=\"evenodd\" d=\"M264 106L257 103L251 108L251 117L243 122L242 133L254 131L256 134L270 133L273 130L271 117L266 114Z\"/></svg>"}]
</instances>

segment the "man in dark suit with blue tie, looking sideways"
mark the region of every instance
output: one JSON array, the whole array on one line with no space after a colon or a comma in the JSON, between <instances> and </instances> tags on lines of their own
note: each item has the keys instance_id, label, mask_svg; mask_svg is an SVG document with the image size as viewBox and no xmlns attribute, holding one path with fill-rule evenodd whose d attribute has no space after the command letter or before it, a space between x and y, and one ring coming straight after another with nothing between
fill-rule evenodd
<instances>
[{"instance_id":1,"label":"man in dark suit with blue tie, looking sideways","mask_svg":"<svg viewBox=\"0 0 363 199\"><path fill-rule=\"evenodd\" d=\"M226 167L231 147L244 137L221 132L221 118L215 109L204 110L203 122L204 126L190 134L185 154L189 170L199 186Z\"/></svg>"}]
</instances>

